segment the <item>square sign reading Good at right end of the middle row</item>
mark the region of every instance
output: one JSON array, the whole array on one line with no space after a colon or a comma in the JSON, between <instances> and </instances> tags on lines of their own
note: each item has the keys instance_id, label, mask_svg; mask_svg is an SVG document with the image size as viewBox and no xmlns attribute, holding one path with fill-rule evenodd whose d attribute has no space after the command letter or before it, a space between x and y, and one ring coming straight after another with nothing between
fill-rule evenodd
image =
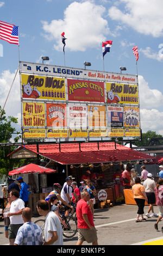
<instances>
[{"instance_id":1,"label":"square sign reading Good at right end of the middle row","mask_svg":"<svg viewBox=\"0 0 163 256\"><path fill-rule=\"evenodd\" d=\"M124 126L139 127L140 126L139 108L124 107Z\"/></svg>"}]
</instances>

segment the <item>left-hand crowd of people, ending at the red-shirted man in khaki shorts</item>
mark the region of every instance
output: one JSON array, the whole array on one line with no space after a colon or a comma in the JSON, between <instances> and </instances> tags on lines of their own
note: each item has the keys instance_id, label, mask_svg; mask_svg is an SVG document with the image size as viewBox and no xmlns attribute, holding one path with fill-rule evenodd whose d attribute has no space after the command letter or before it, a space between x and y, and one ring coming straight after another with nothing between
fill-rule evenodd
<instances>
[{"instance_id":1,"label":"left-hand crowd of people, ending at the red-shirted man in khaki shorts","mask_svg":"<svg viewBox=\"0 0 163 256\"><path fill-rule=\"evenodd\" d=\"M59 183L53 184L53 191L45 200L37 202L36 208L39 215L45 217L44 241L41 228L32 221L32 210L28 207L28 185L22 177L17 181L18 184L12 179L8 180L8 203L3 211L5 237L9 239L10 245L63 245L61 224L64 228L67 225L59 215L59 205L67 206L65 216L68 216L74 211L73 204L78 202L76 206L77 245L82 245L84 241L98 245L93 223L96 189L90 179L82 180L78 188L77 182L73 181L72 176L68 176L62 187Z\"/></svg>"}]
</instances>

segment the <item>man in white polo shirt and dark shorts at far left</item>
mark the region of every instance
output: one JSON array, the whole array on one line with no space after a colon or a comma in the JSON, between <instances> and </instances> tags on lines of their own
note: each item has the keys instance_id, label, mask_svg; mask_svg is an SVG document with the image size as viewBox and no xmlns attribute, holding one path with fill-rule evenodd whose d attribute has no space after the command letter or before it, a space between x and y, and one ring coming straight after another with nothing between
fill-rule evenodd
<instances>
[{"instance_id":1,"label":"man in white polo shirt and dark shorts at far left","mask_svg":"<svg viewBox=\"0 0 163 256\"><path fill-rule=\"evenodd\" d=\"M24 202L19 198L20 193L17 190L10 191L10 198L12 200L10 213L7 214L10 217L10 225L9 225L9 241L10 245L14 245L14 241L17 235L18 229L23 225L23 217L22 211L24 209Z\"/></svg>"}]
</instances>

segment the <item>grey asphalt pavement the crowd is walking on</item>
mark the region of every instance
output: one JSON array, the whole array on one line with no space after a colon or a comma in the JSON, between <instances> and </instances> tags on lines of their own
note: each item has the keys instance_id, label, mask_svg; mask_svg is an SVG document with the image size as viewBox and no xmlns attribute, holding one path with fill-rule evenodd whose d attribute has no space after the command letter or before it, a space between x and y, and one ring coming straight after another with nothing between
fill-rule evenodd
<instances>
[{"instance_id":1,"label":"grey asphalt pavement the crowd is walking on","mask_svg":"<svg viewBox=\"0 0 163 256\"><path fill-rule=\"evenodd\" d=\"M145 206L145 214L148 206ZM146 221L135 222L137 205L116 204L112 208L95 209L95 227L97 229L98 245L143 245L147 242L160 240L163 245L161 227L163 221L159 222L159 230L154 229L157 218L147 218ZM159 214L158 206L154 206L154 212ZM145 215L144 215L145 216ZM42 218L33 216L33 221ZM64 238L64 246L76 245L78 233L71 239ZM0 222L0 245L9 245L5 238L4 221ZM84 246L88 244L83 243Z\"/></svg>"}]
</instances>

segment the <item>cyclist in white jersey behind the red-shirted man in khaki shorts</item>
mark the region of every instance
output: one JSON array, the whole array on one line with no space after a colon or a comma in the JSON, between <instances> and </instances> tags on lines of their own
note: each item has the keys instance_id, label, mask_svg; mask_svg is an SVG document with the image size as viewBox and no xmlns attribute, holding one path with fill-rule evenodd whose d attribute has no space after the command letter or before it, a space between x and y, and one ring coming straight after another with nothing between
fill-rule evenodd
<instances>
[{"instance_id":1,"label":"cyclist in white jersey behind the red-shirted man in khaki shorts","mask_svg":"<svg viewBox=\"0 0 163 256\"><path fill-rule=\"evenodd\" d=\"M68 204L72 204L71 197L72 195L74 198L76 198L77 202L79 201L79 198L77 194L74 192L73 187L72 187L72 178L68 176L66 178L66 185L62 188L60 196L63 200L65 200ZM66 211L66 216L68 215L68 211Z\"/></svg>"}]
</instances>

